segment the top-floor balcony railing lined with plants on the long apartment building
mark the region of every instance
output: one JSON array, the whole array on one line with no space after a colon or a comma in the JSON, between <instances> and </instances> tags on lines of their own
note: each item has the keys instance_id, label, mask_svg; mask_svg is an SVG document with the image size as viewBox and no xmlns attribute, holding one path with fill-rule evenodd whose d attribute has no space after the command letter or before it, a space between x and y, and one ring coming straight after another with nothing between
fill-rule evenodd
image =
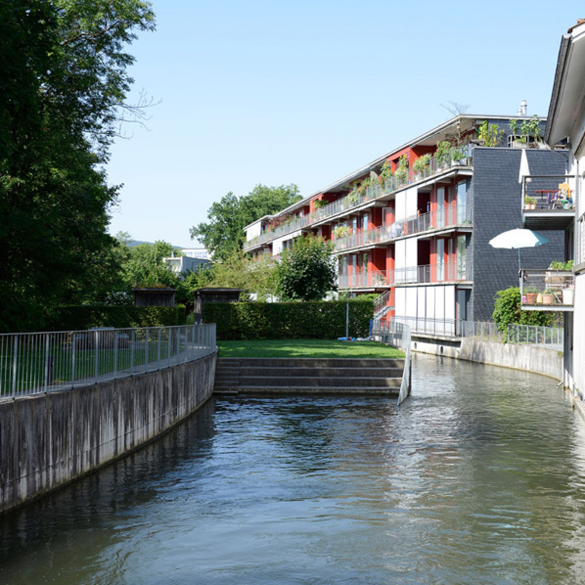
<instances>
[{"instance_id":1,"label":"top-floor balcony railing lined with plants on the long apartment building","mask_svg":"<svg viewBox=\"0 0 585 585\"><path fill-rule=\"evenodd\" d=\"M405 185L411 183L418 183L424 181L438 173L442 173L452 167L469 167L473 164L472 149L469 146L462 146L452 148L442 157L433 156L429 159L428 164L421 170L414 170L414 168L398 169L391 177L383 180L374 180L372 184L368 185L362 192L352 192L337 201L333 201L328 205L324 205L319 209L315 209L311 214L305 215L302 218L295 218L290 222L281 223L281 225L270 231L261 233L256 238L244 243L244 251L252 249L264 242L269 242L275 238L283 236L295 230L302 229L313 223L323 221L338 215L349 209L359 207L369 201L375 201L378 198L398 191Z\"/></svg>"}]
</instances>

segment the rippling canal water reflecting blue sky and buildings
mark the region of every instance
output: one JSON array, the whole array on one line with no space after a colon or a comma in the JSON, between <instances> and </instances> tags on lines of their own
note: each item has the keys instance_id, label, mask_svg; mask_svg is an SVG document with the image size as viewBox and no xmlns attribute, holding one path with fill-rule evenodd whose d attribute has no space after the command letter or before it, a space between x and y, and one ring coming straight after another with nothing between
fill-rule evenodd
<instances>
[{"instance_id":1,"label":"rippling canal water reflecting blue sky and buildings","mask_svg":"<svg viewBox=\"0 0 585 585\"><path fill-rule=\"evenodd\" d=\"M585 583L585 423L415 356L411 398L217 400L1 518L0 583Z\"/></svg>"}]
</instances>

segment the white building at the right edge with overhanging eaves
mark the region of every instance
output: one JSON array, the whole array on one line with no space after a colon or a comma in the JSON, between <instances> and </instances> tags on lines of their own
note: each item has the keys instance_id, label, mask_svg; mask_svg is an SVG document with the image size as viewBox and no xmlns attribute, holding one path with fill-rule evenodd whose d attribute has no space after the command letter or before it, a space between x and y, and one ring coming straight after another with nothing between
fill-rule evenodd
<instances>
[{"instance_id":1,"label":"white building at the right edge with overhanging eaves","mask_svg":"<svg viewBox=\"0 0 585 585\"><path fill-rule=\"evenodd\" d=\"M547 264L523 280L545 281L565 305L565 386L585 400L585 205L581 198L585 177L585 19L570 27L560 42L546 125L545 140L551 147L566 144L565 176L555 180L563 205L540 213L525 210L528 228L560 228L565 235L565 260L573 260L572 270L551 273ZM546 177L535 178L546 181ZM534 181L533 181L534 182ZM531 185L532 187L532 185ZM566 268L570 269L570 265ZM555 282L552 283L552 278ZM562 295L559 298L559 295ZM529 302L525 302L529 308ZM554 305L553 305L554 306ZM550 307L553 308L553 307Z\"/></svg>"}]
</instances>

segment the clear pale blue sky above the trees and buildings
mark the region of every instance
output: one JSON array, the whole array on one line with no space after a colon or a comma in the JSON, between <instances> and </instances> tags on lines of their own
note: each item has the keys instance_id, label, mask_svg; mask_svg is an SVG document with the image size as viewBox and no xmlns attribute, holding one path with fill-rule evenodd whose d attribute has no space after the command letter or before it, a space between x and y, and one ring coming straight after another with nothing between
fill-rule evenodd
<instances>
[{"instance_id":1,"label":"clear pale blue sky above the trees and buildings","mask_svg":"<svg viewBox=\"0 0 585 585\"><path fill-rule=\"evenodd\" d=\"M130 47L160 104L108 165L111 233L195 246L212 202L254 185L310 195L450 118L546 115L560 37L583 0L154 0Z\"/></svg>"}]
</instances>

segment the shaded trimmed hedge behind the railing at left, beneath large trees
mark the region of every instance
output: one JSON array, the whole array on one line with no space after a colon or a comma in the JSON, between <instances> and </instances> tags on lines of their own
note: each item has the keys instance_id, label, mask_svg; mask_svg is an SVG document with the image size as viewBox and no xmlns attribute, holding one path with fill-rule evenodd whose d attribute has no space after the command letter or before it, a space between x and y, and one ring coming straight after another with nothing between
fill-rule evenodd
<instances>
[{"instance_id":1,"label":"shaded trimmed hedge behind the railing at left, beneath large trees","mask_svg":"<svg viewBox=\"0 0 585 585\"><path fill-rule=\"evenodd\" d=\"M183 325L185 307L79 305L63 307L50 325L52 331L85 331L92 327L161 327Z\"/></svg>"}]
</instances>

